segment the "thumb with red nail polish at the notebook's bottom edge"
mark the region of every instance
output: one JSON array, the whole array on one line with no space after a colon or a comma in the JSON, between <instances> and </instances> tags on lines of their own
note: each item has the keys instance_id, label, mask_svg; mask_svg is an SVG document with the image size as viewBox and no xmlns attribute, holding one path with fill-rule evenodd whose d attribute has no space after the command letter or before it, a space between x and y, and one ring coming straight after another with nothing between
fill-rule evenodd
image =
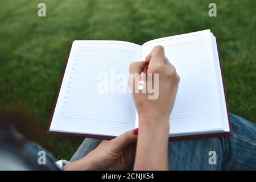
<instances>
[{"instance_id":1,"label":"thumb with red nail polish at the notebook's bottom edge","mask_svg":"<svg viewBox=\"0 0 256 182\"><path fill-rule=\"evenodd\" d=\"M126 131L118 137L112 139L118 150L123 150L129 144L135 142L138 138L138 129Z\"/></svg>"}]
</instances>

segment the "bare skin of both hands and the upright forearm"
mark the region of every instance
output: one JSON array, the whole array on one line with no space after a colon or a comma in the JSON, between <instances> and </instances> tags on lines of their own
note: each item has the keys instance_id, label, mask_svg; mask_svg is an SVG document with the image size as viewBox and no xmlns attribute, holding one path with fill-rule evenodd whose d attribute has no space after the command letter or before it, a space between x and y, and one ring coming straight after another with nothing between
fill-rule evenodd
<instances>
[{"instance_id":1,"label":"bare skin of both hands and the upright forearm","mask_svg":"<svg viewBox=\"0 0 256 182\"><path fill-rule=\"evenodd\" d=\"M134 159L134 170L168 170L169 118L180 78L162 46L154 47L145 61L147 73L159 74L159 97L148 100L148 93L133 92L139 116L138 135L130 130L104 140L84 158L65 165L64 170L122 170ZM145 61L131 63L130 73L141 74ZM136 85L137 80L130 79L130 84Z\"/></svg>"}]
</instances>

